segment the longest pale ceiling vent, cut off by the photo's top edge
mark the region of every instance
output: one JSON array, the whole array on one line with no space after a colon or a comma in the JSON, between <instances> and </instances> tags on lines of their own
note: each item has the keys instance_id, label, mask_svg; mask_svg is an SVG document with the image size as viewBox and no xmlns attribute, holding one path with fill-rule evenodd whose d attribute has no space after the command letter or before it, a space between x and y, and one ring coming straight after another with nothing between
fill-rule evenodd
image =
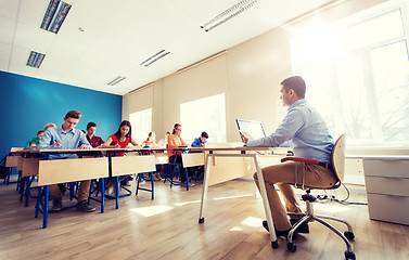
<instances>
[{"instance_id":1,"label":"longest pale ceiling vent, cut off by the photo's top edge","mask_svg":"<svg viewBox=\"0 0 409 260\"><path fill-rule=\"evenodd\" d=\"M257 0L242 0L234 4L233 6L225 10L220 14L216 15L214 18L204 23L201 28L205 31L209 31L217 26L226 23L227 21L233 18L234 16L243 13L244 11L253 8L258 1Z\"/></svg>"}]
</instances>

